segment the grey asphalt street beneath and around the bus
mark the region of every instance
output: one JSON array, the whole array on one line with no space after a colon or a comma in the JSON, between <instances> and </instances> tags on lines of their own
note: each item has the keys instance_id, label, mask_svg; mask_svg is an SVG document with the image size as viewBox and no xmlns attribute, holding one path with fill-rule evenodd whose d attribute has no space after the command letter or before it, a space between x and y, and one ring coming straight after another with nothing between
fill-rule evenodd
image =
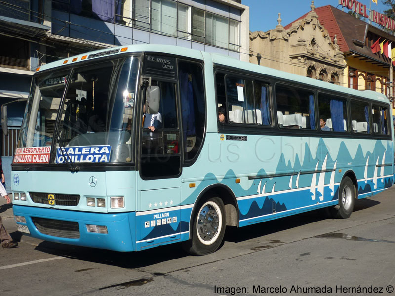
<instances>
[{"instance_id":1,"label":"grey asphalt street beneath and around the bus","mask_svg":"<svg viewBox=\"0 0 395 296\"><path fill-rule=\"evenodd\" d=\"M0 248L1 296L395 295L395 187L356 201L346 220L313 211L228 228L215 253L179 244L118 253L45 242L0 215L15 249Z\"/></svg>"}]
</instances>

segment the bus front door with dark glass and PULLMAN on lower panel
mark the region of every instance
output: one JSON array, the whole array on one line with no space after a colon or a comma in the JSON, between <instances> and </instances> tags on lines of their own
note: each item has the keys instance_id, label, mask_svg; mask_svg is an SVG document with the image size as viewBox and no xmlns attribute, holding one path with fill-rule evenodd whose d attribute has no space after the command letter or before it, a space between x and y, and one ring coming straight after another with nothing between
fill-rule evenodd
<instances>
[{"instance_id":1,"label":"bus front door with dark glass and PULLMAN on lower panel","mask_svg":"<svg viewBox=\"0 0 395 296\"><path fill-rule=\"evenodd\" d=\"M175 83L160 87L157 114L141 118L137 250L180 241L181 152Z\"/></svg>"}]
</instances>

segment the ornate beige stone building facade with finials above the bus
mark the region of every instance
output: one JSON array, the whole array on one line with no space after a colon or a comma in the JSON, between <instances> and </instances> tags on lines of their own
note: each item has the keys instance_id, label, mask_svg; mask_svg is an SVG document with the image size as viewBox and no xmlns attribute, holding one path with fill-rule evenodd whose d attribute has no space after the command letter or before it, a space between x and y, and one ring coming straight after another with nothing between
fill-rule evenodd
<instances>
[{"instance_id":1,"label":"ornate beige stone building facade with finials above the bus","mask_svg":"<svg viewBox=\"0 0 395 296\"><path fill-rule=\"evenodd\" d=\"M279 13L275 29L250 32L250 62L341 84L344 55L337 36L331 38L314 9L312 4L307 15L286 27Z\"/></svg>"}]
</instances>

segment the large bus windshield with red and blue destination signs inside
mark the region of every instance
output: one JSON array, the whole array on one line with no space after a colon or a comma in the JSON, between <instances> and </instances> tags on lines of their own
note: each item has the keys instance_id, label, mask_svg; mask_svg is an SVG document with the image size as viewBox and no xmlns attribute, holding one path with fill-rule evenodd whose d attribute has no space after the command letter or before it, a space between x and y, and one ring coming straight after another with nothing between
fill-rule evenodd
<instances>
[{"instance_id":1,"label":"large bus windshield with red and blue destination signs inside","mask_svg":"<svg viewBox=\"0 0 395 296\"><path fill-rule=\"evenodd\" d=\"M128 57L37 75L14 163L133 162L139 61ZM48 157L37 157L45 152Z\"/></svg>"}]
</instances>

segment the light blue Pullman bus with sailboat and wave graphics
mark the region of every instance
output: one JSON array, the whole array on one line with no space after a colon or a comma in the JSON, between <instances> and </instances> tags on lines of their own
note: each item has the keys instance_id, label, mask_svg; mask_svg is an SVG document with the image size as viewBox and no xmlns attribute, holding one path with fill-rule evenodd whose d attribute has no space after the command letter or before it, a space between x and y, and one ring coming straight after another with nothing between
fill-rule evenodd
<instances>
[{"instance_id":1,"label":"light blue Pullman bus with sailboat and wave graphics","mask_svg":"<svg viewBox=\"0 0 395 296\"><path fill-rule=\"evenodd\" d=\"M319 208L348 218L356 199L394 183L393 155L383 94L176 46L120 46L36 70L13 212L19 231L46 241L121 252L182 242L205 255L226 226Z\"/></svg>"}]
</instances>

